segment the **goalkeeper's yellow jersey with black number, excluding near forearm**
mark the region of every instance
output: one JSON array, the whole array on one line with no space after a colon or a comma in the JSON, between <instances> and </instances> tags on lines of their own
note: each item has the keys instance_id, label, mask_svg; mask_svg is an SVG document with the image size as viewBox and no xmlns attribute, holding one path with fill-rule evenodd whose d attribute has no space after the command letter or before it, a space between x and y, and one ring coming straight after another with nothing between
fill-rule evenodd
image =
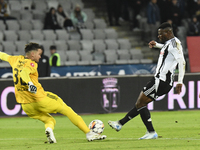
<instances>
[{"instance_id":1,"label":"goalkeeper's yellow jersey with black number, excluding near forearm","mask_svg":"<svg viewBox=\"0 0 200 150\"><path fill-rule=\"evenodd\" d=\"M46 97L46 92L44 91L41 84L38 82L38 71L37 71L38 64L35 61L27 59L25 58L25 56L22 55L19 56L7 55L6 61L8 61L12 67L13 81L15 85L15 97L18 103L37 102L41 101ZM24 68L30 71L29 76L31 82L33 82L33 84L37 87L36 94L28 91L28 84L25 83L20 76L20 72Z\"/></svg>"}]
</instances>

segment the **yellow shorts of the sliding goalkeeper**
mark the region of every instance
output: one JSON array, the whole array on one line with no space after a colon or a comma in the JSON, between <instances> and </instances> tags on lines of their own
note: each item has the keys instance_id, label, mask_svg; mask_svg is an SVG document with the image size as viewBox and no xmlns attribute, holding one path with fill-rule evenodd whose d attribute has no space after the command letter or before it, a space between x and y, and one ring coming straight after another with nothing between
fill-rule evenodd
<instances>
[{"instance_id":1,"label":"yellow shorts of the sliding goalkeeper","mask_svg":"<svg viewBox=\"0 0 200 150\"><path fill-rule=\"evenodd\" d=\"M35 118L33 116L41 115L41 113L59 113L62 111L64 105L66 105L63 100L56 94L53 94L51 92L46 93L47 96L41 101L29 104L22 104L23 110L29 117Z\"/></svg>"}]
</instances>

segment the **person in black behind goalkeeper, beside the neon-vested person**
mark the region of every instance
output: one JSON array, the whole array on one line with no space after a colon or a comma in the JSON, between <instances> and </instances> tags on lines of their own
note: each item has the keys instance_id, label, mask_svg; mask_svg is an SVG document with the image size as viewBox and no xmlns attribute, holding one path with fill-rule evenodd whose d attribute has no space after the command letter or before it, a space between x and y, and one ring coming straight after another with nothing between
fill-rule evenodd
<instances>
[{"instance_id":1,"label":"person in black behind goalkeeper, beside the neon-vested person","mask_svg":"<svg viewBox=\"0 0 200 150\"><path fill-rule=\"evenodd\" d=\"M38 63L39 77L50 77L51 68L49 65L49 57L44 55L44 47L41 46L42 55Z\"/></svg>"}]
</instances>

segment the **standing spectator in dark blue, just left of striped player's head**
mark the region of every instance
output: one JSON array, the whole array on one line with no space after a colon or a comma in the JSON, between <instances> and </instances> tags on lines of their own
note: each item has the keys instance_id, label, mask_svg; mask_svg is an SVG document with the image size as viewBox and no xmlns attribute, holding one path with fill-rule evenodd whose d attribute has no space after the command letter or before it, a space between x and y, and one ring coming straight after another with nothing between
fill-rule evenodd
<instances>
[{"instance_id":1,"label":"standing spectator in dark blue, just left of striped player's head","mask_svg":"<svg viewBox=\"0 0 200 150\"><path fill-rule=\"evenodd\" d=\"M150 38L157 40L157 28L160 25L160 9L157 0L151 0L147 5L147 24L151 33Z\"/></svg>"}]
</instances>

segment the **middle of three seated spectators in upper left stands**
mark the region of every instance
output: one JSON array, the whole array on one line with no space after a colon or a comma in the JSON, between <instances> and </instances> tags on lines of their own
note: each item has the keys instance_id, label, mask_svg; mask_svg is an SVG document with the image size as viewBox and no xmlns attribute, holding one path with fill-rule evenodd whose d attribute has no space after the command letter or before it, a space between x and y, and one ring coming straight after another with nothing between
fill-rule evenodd
<instances>
[{"instance_id":1,"label":"middle of three seated spectators in upper left stands","mask_svg":"<svg viewBox=\"0 0 200 150\"><path fill-rule=\"evenodd\" d=\"M56 15L58 23L61 27L67 29L68 31L74 30L72 20L70 19L68 13L63 10L61 5L58 5Z\"/></svg>"}]
</instances>

